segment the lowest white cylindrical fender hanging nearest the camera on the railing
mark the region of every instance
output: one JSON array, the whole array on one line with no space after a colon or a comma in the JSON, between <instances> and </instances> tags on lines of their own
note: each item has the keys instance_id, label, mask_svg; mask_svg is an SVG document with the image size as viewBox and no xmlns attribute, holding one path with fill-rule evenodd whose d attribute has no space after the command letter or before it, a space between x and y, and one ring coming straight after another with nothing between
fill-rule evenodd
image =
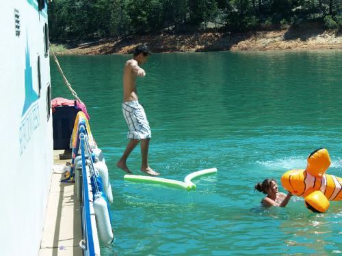
<instances>
[{"instance_id":1,"label":"lowest white cylindrical fender hanging nearest the camera on the railing","mask_svg":"<svg viewBox=\"0 0 342 256\"><path fill-rule=\"evenodd\" d=\"M109 245L114 240L114 234L113 230L111 229L107 202L102 197L101 193L96 193L94 197L94 212L97 230L100 234L101 242L103 242L105 245Z\"/></svg>"}]
</instances>

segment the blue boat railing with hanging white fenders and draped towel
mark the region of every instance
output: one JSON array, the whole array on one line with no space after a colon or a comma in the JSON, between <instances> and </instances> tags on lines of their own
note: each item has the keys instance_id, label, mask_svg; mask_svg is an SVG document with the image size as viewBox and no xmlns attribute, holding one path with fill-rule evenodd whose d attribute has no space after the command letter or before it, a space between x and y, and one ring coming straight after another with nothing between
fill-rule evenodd
<instances>
[{"instance_id":1,"label":"blue boat railing with hanging white fenders and draped towel","mask_svg":"<svg viewBox=\"0 0 342 256\"><path fill-rule=\"evenodd\" d=\"M81 203L83 255L100 255L99 240L111 248L109 203L113 201L105 159L98 149L86 117L80 111L73 131L73 157L70 179L75 180L76 198ZM75 135L75 136L74 136Z\"/></svg>"}]
</instances>

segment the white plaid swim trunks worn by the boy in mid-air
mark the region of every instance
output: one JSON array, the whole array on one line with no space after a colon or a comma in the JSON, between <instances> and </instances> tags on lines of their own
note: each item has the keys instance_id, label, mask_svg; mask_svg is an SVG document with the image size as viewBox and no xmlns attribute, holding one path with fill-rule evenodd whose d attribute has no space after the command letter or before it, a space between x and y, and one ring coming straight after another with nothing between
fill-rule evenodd
<instances>
[{"instance_id":1,"label":"white plaid swim trunks worn by the boy in mid-air","mask_svg":"<svg viewBox=\"0 0 342 256\"><path fill-rule=\"evenodd\" d=\"M148 139L151 137L150 125L142 105L137 100L122 103L122 113L129 126L127 138Z\"/></svg>"}]
</instances>

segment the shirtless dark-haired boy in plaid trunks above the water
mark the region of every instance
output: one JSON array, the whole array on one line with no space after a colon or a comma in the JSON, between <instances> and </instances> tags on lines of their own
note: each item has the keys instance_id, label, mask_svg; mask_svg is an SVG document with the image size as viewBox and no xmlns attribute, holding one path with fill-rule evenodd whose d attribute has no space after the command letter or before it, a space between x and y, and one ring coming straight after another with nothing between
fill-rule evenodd
<instances>
[{"instance_id":1,"label":"shirtless dark-haired boy in plaid trunks above the water","mask_svg":"<svg viewBox=\"0 0 342 256\"><path fill-rule=\"evenodd\" d=\"M148 55L150 55L150 51L148 51L147 46L140 44L134 50L133 59L126 61L124 64L122 113L124 114L127 126L129 126L127 137L130 141L116 166L127 173L132 173L126 165L126 160L129 157L129 154L131 154L137 144L141 141L141 171L149 175L157 176L159 173L153 171L148 165L148 143L150 142L151 132L145 111L138 102L137 86L135 84L137 76L142 77L146 75L145 70L140 68L140 65L146 63Z\"/></svg>"}]
</instances>

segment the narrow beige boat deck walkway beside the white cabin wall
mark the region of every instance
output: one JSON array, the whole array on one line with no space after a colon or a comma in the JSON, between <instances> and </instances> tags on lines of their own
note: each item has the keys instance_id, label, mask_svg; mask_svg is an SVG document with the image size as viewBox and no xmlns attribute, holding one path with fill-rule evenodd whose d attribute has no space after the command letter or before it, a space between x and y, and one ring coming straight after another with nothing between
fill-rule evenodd
<instances>
[{"instance_id":1,"label":"narrow beige boat deck walkway beside the white cabin wall","mask_svg":"<svg viewBox=\"0 0 342 256\"><path fill-rule=\"evenodd\" d=\"M64 150L55 150L51 187L44 222L39 256L83 255L79 242L82 240L80 203L74 193L75 183L63 183L62 168L70 158Z\"/></svg>"}]
</instances>

